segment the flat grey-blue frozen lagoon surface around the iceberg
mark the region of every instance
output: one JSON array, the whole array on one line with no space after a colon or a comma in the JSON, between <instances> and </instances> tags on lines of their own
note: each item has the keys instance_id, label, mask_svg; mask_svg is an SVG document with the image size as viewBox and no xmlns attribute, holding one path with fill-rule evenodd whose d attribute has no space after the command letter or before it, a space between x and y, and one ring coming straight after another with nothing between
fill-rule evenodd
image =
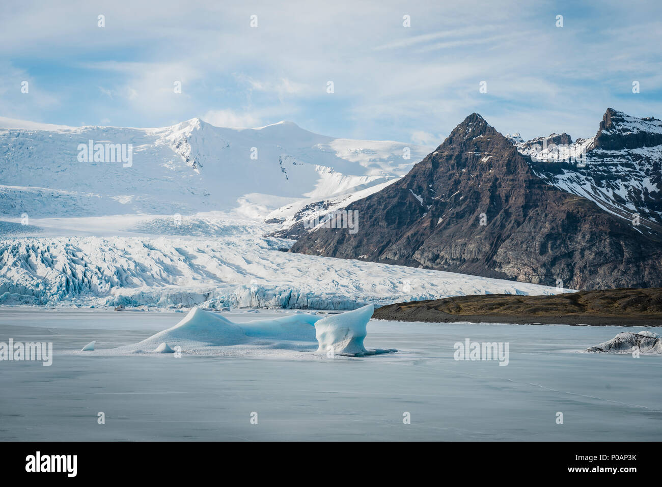
<instances>
[{"instance_id":1,"label":"flat grey-blue frozen lagoon surface around the iceberg","mask_svg":"<svg viewBox=\"0 0 662 487\"><path fill-rule=\"evenodd\" d=\"M136 343L183 316L0 308L0 341L52 341L55 353L50 367L0 362L0 439L657 441L662 433L662 356L577 353L638 331L616 326L371 320L366 347L399 352L365 358L71 353L93 340L97 349ZM455 361L453 344L467 338L508 342L508 366Z\"/></svg>"}]
</instances>

